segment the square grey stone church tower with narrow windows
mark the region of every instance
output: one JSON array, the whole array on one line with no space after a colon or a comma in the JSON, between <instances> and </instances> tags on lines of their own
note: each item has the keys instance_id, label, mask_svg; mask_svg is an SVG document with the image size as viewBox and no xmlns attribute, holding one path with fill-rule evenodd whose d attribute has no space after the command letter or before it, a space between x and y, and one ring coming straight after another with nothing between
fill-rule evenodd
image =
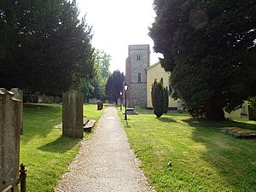
<instances>
[{"instance_id":1,"label":"square grey stone church tower with narrow windows","mask_svg":"<svg viewBox=\"0 0 256 192\"><path fill-rule=\"evenodd\" d=\"M147 107L147 71L149 67L149 44L129 45L126 59L125 81L128 84L127 106Z\"/></svg>"}]
</instances>

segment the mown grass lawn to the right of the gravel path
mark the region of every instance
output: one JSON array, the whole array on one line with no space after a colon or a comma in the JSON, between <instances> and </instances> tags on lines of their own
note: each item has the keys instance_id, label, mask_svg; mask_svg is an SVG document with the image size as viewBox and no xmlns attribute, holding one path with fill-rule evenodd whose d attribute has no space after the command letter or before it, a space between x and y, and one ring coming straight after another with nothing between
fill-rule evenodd
<instances>
[{"instance_id":1,"label":"mown grass lawn to the right of the gravel path","mask_svg":"<svg viewBox=\"0 0 256 192\"><path fill-rule=\"evenodd\" d=\"M256 140L239 139L221 127L256 130L255 121L211 122L151 110L120 114L141 168L156 191L256 191ZM237 122L240 121L240 122Z\"/></svg>"}]
</instances>

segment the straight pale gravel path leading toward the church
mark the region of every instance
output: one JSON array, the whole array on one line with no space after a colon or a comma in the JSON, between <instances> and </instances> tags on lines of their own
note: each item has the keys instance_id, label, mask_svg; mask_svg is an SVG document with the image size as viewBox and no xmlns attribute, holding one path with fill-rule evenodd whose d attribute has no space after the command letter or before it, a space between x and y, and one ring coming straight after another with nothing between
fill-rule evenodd
<instances>
[{"instance_id":1,"label":"straight pale gravel path leading toward the church","mask_svg":"<svg viewBox=\"0 0 256 192\"><path fill-rule=\"evenodd\" d=\"M154 191L138 168L129 147L116 108L109 107L99 121L96 133L84 141L55 192Z\"/></svg>"}]
</instances>

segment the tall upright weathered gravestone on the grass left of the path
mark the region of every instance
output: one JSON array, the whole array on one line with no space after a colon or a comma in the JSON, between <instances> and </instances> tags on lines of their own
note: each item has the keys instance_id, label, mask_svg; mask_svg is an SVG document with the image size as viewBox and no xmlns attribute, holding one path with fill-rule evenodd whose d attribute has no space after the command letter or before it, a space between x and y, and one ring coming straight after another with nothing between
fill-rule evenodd
<instances>
[{"instance_id":1,"label":"tall upright weathered gravestone on the grass left of the path","mask_svg":"<svg viewBox=\"0 0 256 192\"><path fill-rule=\"evenodd\" d=\"M63 136L83 138L83 94L69 90L62 96Z\"/></svg>"}]
</instances>

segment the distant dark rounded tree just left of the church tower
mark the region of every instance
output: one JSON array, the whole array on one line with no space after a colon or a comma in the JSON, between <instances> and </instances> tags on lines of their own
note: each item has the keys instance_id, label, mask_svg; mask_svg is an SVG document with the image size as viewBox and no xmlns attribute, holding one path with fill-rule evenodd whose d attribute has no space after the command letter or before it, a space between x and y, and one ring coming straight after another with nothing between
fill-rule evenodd
<instances>
[{"instance_id":1,"label":"distant dark rounded tree just left of the church tower","mask_svg":"<svg viewBox=\"0 0 256 192\"><path fill-rule=\"evenodd\" d=\"M113 74L109 76L105 90L110 101L117 103L120 97L120 91L123 90L124 80L124 73L120 73L119 71L114 71Z\"/></svg>"}]
</instances>

